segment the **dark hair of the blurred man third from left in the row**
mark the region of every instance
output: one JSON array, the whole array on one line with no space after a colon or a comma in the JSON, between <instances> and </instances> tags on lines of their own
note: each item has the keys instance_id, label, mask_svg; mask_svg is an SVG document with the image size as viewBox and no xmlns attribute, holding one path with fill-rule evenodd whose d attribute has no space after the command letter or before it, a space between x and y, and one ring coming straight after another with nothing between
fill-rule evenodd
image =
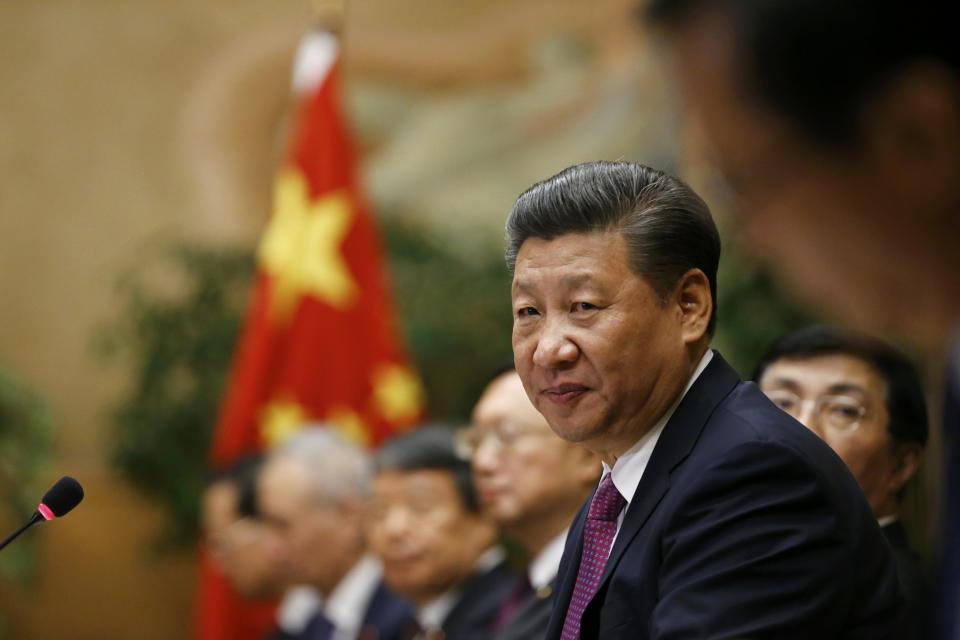
<instances>
[{"instance_id":1,"label":"dark hair of the blurred man third from left in the row","mask_svg":"<svg viewBox=\"0 0 960 640\"><path fill-rule=\"evenodd\" d=\"M377 472L420 469L449 471L464 506L473 512L480 508L470 461L457 454L452 427L428 425L387 440L374 456L373 464Z\"/></svg>"}]
</instances>

